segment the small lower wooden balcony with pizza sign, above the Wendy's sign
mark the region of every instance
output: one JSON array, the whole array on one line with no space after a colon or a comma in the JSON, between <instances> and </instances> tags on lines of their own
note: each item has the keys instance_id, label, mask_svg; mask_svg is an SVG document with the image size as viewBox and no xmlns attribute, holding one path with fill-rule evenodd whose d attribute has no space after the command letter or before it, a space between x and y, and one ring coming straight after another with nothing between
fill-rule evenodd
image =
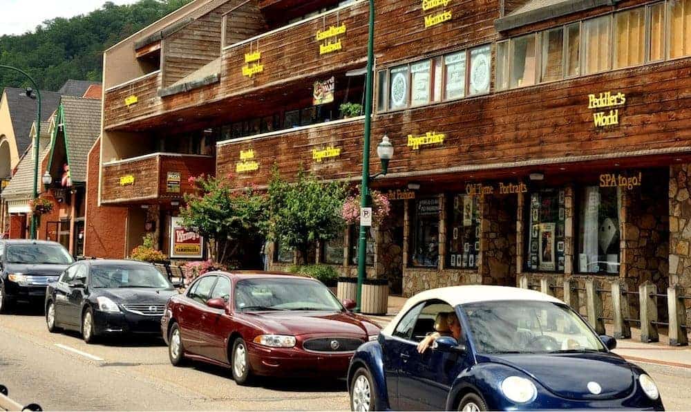
<instances>
[{"instance_id":1,"label":"small lower wooden balcony with pizza sign, above the Wendy's sign","mask_svg":"<svg viewBox=\"0 0 691 412\"><path fill-rule=\"evenodd\" d=\"M190 177L214 173L214 157L152 153L103 165L102 203L137 204L180 200L193 193Z\"/></svg>"}]
</instances>

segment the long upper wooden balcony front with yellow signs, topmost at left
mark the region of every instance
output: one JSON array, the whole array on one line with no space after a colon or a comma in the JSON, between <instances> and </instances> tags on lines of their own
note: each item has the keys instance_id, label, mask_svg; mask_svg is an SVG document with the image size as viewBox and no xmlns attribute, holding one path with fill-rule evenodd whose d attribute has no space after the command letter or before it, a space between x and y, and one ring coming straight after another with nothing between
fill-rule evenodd
<instances>
[{"instance_id":1,"label":"long upper wooden balcony front with yellow signs, topmost at left","mask_svg":"<svg viewBox=\"0 0 691 412\"><path fill-rule=\"evenodd\" d=\"M271 90L310 87L315 79L366 64L368 7L364 1L225 46L218 81L209 66L187 75L191 86L161 88L158 72L105 93L104 129L141 131L189 121L211 122L229 106L264 106ZM319 38L319 39L318 39ZM165 71L165 68L164 68ZM126 100L127 97L136 97ZM270 97L270 96L269 96ZM129 104L128 104L129 103Z\"/></svg>"}]
</instances>

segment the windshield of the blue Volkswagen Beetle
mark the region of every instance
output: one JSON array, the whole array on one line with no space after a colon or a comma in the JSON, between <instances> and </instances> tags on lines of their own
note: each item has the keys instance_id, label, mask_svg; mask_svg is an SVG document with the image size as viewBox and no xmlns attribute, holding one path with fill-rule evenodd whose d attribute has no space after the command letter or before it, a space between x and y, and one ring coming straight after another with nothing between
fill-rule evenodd
<instances>
[{"instance_id":1,"label":"windshield of the blue Volkswagen Beetle","mask_svg":"<svg viewBox=\"0 0 691 412\"><path fill-rule=\"evenodd\" d=\"M604 351L568 306L547 301L486 301L462 306L478 353Z\"/></svg>"}]
</instances>

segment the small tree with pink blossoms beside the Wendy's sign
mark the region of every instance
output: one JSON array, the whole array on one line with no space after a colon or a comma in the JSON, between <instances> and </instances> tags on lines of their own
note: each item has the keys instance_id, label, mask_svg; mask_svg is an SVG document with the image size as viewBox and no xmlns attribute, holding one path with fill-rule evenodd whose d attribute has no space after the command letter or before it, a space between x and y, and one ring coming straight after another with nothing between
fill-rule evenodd
<instances>
[{"instance_id":1,"label":"small tree with pink blossoms beside the Wendy's sign","mask_svg":"<svg viewBox=\"0 0 691 412\"><path fill-rule=\"evenodd\" d=\"M184 197L187 207L180 209L182 225L204 236L211 259L225 263L243 241L260 233L265 196L253 188L234 191L227 180L211 176L190 178L190 182L197 193Z\"/></svg>"}]
</instances>

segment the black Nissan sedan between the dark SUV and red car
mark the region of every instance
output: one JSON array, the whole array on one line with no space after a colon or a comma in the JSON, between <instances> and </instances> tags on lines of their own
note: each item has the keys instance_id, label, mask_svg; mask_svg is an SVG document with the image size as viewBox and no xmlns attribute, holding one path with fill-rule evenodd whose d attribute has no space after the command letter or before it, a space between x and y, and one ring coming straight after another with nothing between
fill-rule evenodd
<instances>
[{"instance_id":1,"label":"black Nissan sedan between the dark SUV and red car","mask_svg":"<svg viewBox=\"0 0 691 412\"><path fill-rule=\"evenodd\" d=\"M151 263L79 261L48 285L46 325L82 333L91 344L106 335L160 335L168 298L178 294Z\"/></svg>"}]
</instances>

